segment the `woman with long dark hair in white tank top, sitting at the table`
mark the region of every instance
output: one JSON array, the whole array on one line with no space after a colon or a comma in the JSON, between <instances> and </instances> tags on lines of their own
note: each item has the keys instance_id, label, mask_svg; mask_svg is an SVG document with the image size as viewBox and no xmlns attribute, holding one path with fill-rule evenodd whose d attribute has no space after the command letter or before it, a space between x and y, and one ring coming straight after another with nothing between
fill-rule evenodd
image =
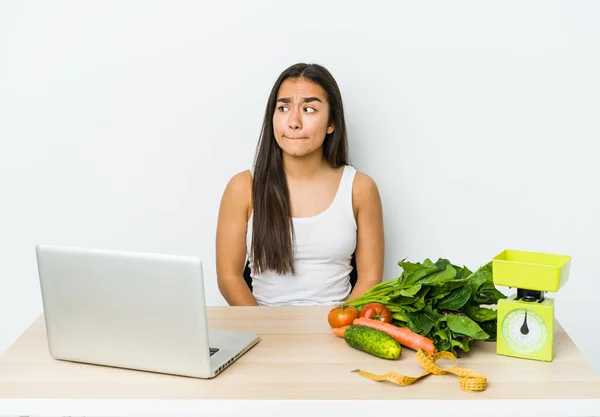
<instances>
[{"instance_id":1,"label":"woman with long dark hair in white tank top, sitting at the table","mask_svg":"<svg viewBox=\"0 0 600 417\"><path fill-rule=\"evenodd\" d=\"M342 98L329 71L286 69L268 99L254 170L233 176L221 201L217 277L230 305L336 305L381 282L381 199L347 154ZM252 291L243 278L247 257Z\"/></svg>"}]
</instances>

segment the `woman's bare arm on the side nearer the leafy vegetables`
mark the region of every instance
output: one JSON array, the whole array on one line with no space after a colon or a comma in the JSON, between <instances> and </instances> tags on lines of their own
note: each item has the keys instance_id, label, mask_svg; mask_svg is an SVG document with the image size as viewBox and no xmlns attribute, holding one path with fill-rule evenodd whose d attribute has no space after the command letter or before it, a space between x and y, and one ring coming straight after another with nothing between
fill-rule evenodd
<instances>
[{"instance_id":1,"label":"woman's bare arm on the side nearer the leafy vegetables","mask_svg":"<svg viewBox=\"0 0 600 417\"><path fill-rule=\"evenodd\" d=\"M383 280L385 251L383 210L375 181L357 172L352 187L352 205L356 217L356 269L358 279L348 299L361 296Z\"/></svg>"}]
</instances>

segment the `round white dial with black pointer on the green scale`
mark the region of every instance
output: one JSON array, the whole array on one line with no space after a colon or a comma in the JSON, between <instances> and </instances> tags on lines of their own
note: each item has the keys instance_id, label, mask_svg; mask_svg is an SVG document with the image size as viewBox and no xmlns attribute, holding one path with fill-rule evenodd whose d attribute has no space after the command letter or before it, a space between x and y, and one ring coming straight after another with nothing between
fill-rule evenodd
<instances>
[{"instance_id":1,"label":"round white dial with black pointer on the green scale","mask_svg":"<svg viewBox=\"0 0 600 417\"><path fill-rule=\"evenodd\" d=\"M525 308L512 310L502 322L502 336L515 352L530 354L540 350L548 339L544 319Z\"/></svg>"}]
</instances>

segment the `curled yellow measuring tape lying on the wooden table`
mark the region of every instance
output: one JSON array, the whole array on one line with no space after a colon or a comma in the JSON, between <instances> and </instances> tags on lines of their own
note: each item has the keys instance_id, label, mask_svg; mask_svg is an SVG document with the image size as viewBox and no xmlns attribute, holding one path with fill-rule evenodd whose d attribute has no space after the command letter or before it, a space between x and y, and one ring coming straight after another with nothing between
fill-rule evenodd
<instances>
[{"instance_id":1,"label":"curled yellow measuring tape lying on the wooden table","mask_svg":"<svg viewBox=\"0 0 600 417\"><path fill-rule=\"evenodd\" d=\"M390 381L394 384L403 386L414 384L417 380L429 374L446 375L451 373L458 376L458 383L460 388L464 391L479 392L484 391L487 387L487 378L483 375L480 375L475 371L471 371L470 369L457 368L456 356L454 356L452 352L437 352L432 356L426 350L419 349L417 351L416 358L419 364L425 368L425 372L418 377L404 376L397 372L388 372L384 375L377 375L371 372L361 371L360 369L355 369L351 372L356 372L359 375L369 378L373 381ZM435 364L438 359L452 359L454 366L450 369L442 369Z\"/></svg>"}]
</instances>

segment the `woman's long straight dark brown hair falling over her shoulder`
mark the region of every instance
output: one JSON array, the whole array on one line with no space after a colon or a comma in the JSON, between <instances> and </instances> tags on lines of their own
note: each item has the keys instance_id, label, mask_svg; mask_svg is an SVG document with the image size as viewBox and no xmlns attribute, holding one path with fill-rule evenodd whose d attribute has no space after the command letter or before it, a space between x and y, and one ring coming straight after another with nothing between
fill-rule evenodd
<instances>
[{"instance_id":1,"label":"woman's long straight dark brown hair falling over her shoulder","mask_svg":"<svg viewBox=\"0 0 600 417\"><path fill-rule=\"evenodd\" d=\"M348 142L342 95L331 73L317 64L295 64L281 73L269 95L252 179L252 257L258 273L295 273L290 196L283 170L282 150L275 140L273 115L277 93L288 78L303 78L319 84L329 102L329 124L334 130L325 137L323 156L333 167L348 164Z\"/></svg>"}]
</instances>

